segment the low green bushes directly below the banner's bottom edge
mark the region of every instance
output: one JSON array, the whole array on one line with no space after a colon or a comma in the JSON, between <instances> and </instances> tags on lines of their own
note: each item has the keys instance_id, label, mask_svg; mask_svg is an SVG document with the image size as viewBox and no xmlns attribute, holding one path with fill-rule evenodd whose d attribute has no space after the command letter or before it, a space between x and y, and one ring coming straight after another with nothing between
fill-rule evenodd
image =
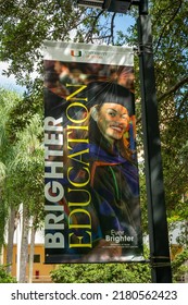
<instances>
[{"instance_id":1,"label":"low green bushes directly below the banner's bottom edge","mask_svg":"<svg viewBox=\"0 0 188 305\"><path fill-rule=\"evenodd\" d=\"M71 264L51 271L55 283L142 283L150 282L147 264Z\"/></svg>"}]
</instances>

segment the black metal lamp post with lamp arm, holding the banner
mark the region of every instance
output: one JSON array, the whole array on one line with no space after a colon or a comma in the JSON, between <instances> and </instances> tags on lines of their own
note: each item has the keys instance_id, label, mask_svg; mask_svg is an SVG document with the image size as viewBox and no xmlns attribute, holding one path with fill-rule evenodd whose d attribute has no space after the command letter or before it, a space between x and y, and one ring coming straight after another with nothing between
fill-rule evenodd
<instances>
[{"instance_id":1,"label":"black metal lamp post with lamp arm, holding the banner","mask_svg":"<svg viewBox=\"0 0 188 305\"><path fill-rule=\"evenodd\" d=\"M126 13L131 5L137 5L139 9L137 26L151 274L152 282L154 283L171 283L172 270L163 185L152 32L148 13L148 0L77 0L77 3L88 8L97 8L118 13Z\"/></svg>"}]
</instances>

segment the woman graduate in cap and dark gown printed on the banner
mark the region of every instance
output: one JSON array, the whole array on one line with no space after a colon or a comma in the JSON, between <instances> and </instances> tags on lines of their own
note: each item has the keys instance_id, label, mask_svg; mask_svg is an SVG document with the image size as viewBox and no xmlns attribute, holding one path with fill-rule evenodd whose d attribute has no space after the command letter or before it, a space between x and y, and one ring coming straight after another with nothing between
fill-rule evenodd
<instances>
[{"instance_id":1,"label":"woman graduate in cap and dark gown printed on the banner","mask_svg":"<svg viewBox=\"0 0 188 305\"><path fill-rule=\"evenodd\" d=\"M126 136L135 114L134 94L110 82L92 82L86 90L82 94L87 94L90 114L80 138L87 141L76 144L70 155L75 184L86 181L84 163L90 173L95 229L92 247L83 257L87 261L124 261L142 253L138 168ZM87 151L80 162L71 157L78 151ZM68 194L68 200L76 202L75 195Z\"/></svg>"}]
</instances>

